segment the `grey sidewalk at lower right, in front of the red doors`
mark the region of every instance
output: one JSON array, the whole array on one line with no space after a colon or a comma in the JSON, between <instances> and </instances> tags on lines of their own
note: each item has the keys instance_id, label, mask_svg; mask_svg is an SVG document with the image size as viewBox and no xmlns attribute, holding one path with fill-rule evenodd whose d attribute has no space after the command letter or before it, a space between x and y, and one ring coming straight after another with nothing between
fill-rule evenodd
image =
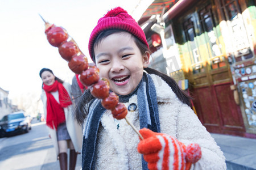
<instances>
[{"instance_id":1,"label":"grey sidewalk at lower right, in front of the red doors","mask_svg":"<svg viewBox=\"0 0 256 170\"><path fill-rule=\"evenodd\" d=\"M256 169L256 139L211 133L224 152L228 170Z\"/></svg>"}]
</instances>

